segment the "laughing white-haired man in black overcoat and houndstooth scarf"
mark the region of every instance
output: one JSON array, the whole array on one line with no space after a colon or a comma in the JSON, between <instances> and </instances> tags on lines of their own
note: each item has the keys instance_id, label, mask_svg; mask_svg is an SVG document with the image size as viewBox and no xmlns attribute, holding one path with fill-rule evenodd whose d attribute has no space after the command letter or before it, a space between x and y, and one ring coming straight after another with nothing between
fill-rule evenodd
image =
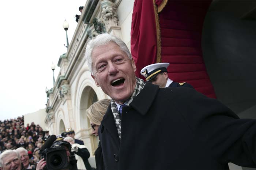
<instances>
[{"instance_id":1,"label":"laughing white-haired man in black overcoat and houndstooth scarf","mask_svg":"<svg viewBox=\"0 0 256 170\"><path fill-rule=\"evenodd\" d=\"M255 167L255 119L239 119L192 88L144 83L114 35L90 40L85 56L95 84L112 98L98 130L106 169Z\"/></svg>"}]
</instances>

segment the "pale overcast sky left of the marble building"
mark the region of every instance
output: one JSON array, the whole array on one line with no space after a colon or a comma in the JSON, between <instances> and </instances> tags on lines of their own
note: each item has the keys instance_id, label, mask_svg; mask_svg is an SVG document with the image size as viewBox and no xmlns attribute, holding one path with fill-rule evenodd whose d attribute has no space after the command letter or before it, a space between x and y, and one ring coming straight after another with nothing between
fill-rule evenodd
<instances>
[{"instance_id":1,"label":"pale overcast sky left of the marble building","mask_svg":"<svg viewBox=\"0 0 256 170\"><path fill-rule=\"evenodd\" d=\"M0 1L0 120L16 118L45 108L46 93L53 87L67 52L63 22L69 23L71 42L75 15L86 0Z\"/></svg>"}]
</instances>

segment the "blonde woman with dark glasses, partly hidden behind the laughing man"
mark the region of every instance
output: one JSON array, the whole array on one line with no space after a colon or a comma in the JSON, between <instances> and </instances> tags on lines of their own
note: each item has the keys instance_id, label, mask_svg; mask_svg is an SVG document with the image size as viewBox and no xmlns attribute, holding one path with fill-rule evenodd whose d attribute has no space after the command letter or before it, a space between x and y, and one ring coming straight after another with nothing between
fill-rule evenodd
<instances>
[{"instance_id":1,"label":"blonde woman with dark glasses, partly hidden behind the laughing man","mask_svg":"<svg viewBox=\"0 0 256 170\"><path fill-rule=\"evenodd\" d=\"M101 125L101 120L103 119L103 116L105 115L109 107L110 101L111 101L110 99L99 100L98 102L93 103L87 109L87 117L90 120L91 128L95 136L98 136L98 129L99 129L99 126ZM95 154L96 169L105 169L102 150L101 150L101 142L99 142L99 146L95 150L94 154Z\"/></svg>"}]
</instances>

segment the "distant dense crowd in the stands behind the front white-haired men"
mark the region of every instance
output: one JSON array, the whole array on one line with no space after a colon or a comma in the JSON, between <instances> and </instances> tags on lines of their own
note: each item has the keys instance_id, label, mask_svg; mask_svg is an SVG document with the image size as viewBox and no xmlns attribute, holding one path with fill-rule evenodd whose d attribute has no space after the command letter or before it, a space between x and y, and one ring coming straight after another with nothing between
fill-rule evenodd
<instances>
[{"instance_id":1,"label":"distant dense crowd in the stands behind the front white-haired men","mask_svg":"<svg viewBox=\"0 0 256 170\"><path fill-rule=\"evenodd\" d=\"M44 131L39 124L31 122L25 125L23 116L0 121L0 153L5 150L25 151L28 157L22 154L20 157L28 169L39 161L39 150L49 137L49 131Z\"/></svg>"}]
</instances>

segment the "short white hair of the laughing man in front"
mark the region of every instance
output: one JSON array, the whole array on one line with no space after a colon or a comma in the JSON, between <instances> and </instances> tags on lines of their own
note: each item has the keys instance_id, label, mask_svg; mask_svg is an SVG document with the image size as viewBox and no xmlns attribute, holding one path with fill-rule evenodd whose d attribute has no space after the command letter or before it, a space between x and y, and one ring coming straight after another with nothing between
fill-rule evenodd
<instances>
[{"instance_id":1,"label":"short white hair of the laughing man in front","mask_svg":"<svg viewBox=\"0 0 256 170\"><path fill-rule=\"evenodd\" d=\"M100 35L96 36L95 38L91 39L87 43L87 46L85 49L85 59L87 60L88 67L89 67L89 70L92 75L93 75L93 59L91 58L91 54L92 54L94 48L108 44L110 41L112 41L113 43L116 43L117 46L120 47L120 50L124 51L127 54L128 58L130 60L132 60L132 55L123 40L121 40L120 38L118 38L110 33L100 34Z\"/></svg>"}]
</instances>

